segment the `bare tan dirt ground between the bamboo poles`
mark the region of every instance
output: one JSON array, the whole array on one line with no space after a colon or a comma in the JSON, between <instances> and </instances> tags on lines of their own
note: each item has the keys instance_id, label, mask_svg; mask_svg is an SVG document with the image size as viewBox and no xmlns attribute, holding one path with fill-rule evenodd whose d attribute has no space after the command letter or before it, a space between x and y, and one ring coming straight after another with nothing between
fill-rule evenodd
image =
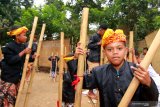
<instances>
[{"instance_id":1,"label":"bare tan dirt ground between the bamboo poles","mask_svg":"<svg viewBox=\"0 0 160 107\"><path fill-rule=\"evenodd\" d=\"M19 107L24 107L26 87L27 84L25 84ZM58 82L54 82L51 77L49 77L49 73L37 72L33 80L28 107L56 107L57 99ZM89 99L83 94L81 107L92 107L89 103Z\"/></svg>"}]
</instances>

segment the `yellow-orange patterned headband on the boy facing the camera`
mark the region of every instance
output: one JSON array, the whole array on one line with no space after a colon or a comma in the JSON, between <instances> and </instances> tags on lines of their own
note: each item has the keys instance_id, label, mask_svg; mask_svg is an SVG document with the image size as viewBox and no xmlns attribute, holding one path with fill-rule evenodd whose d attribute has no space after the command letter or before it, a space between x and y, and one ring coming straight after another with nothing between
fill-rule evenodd
<instances>
[{"instance_id":1,"label":"yellow-orange patterned headband on the boy facing the camera","mask_svg":"<svg viewBox=\"0 0 160 107\"><path fill-rule=\"evenodd\" d=\"M107 29L102 38L102 46L106 46L113 42L126 42L126 35L123 33L123 30L117 29Z\"/></svg>"}]
</instances>

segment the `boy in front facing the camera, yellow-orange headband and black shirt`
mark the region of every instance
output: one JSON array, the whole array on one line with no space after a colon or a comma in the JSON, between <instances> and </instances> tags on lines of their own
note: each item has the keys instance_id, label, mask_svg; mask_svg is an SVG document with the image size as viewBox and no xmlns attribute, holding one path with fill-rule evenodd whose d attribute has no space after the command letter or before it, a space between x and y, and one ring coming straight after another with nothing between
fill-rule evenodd
<instances>
[{"instance_id":1,"label":"boy in front facing the camera, yellow-orange headband and black shirt","mask_svg":"<svg viewBox=\"0 0 160 107\"><path fill-rule=\"evenodd\" d=\"M102 46L110 64L93 68L92 73L84 77L83 84L84 88L98 88L101 107L117 107L133 76L140 81L140 85L132 101L158 100L157 87L148 71L124 60L127 48L126 36L122 30L107 29L102 38ZM83 54L83 50L77 47L75 54Z\"/></svg>"}]
</instances>

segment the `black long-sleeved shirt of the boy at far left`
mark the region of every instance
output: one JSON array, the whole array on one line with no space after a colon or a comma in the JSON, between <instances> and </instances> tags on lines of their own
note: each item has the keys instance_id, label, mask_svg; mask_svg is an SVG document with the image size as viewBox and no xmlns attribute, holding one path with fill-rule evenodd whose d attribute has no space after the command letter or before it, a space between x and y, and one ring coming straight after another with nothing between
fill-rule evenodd
<instances>
[{"instance_id":1,"label":"black long-sleeved shirt of the boy at far left","mask_svg":"<svg viewBox=\"0 0 160 107\"><path fill-rule=\"evenodd\" d=\"M15 41L2 48L4 59L2 60L1 79L10 83L18 83L21 79L25 55L18 54L26 48L24 44Z\"/></svg>"}]
</instances>

